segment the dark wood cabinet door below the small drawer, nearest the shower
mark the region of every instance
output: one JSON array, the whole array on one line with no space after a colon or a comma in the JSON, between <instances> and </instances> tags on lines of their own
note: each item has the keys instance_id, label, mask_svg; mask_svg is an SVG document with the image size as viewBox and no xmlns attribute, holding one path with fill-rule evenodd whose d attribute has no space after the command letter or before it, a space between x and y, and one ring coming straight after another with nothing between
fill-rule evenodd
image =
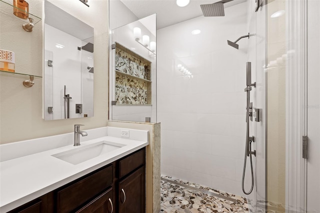
<instances>
[{"instance_id":1,"label":"dark wood cabinet door below the small drawer, nearest the shower","mask_svg":"<svg viewBox=\"0 0 320 213\"><path fill-rule=\"evenodd\" d=\"M119 182L119 213L145 212L145 166Z\"/></svg>"}]
</instances>

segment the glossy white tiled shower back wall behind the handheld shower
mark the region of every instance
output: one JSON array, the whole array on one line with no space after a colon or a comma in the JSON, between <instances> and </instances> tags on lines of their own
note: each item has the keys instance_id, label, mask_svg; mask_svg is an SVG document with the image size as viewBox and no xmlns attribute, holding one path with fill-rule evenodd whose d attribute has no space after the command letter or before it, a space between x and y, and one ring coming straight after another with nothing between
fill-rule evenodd
<instances>
[{"instance_id":1,"label":"glossy white tiled shower back wall behind the handheld shower","mask_svg":"<svg viewBox=\"0 0 320 213\"><path fill-rule=\"evenodd\" d=\"M201 33L192 35L194 29ZM243 195L247 38L237 42L239 49L227 39L247 33L245 2L225 8L223 17L200 16L157 30L163 175Z\"/></svg>"}]
</instances>

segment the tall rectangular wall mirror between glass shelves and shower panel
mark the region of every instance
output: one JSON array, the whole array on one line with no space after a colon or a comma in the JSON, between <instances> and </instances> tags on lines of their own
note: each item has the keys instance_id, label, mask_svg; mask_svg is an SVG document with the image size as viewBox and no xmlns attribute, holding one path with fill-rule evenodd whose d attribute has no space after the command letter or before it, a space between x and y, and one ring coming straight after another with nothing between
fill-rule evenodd
<instances>
[{"instance_id":1,"label":"tall rectangular wall mirror between glass shelves and shower panel","mask_svg":"<svg viewBox=\"0 0 320 213\"><path fill-rule=\"evenodd\" d=\"M93 28L44 1L44 119L93 116Z\"/></svg>"}]
</instances>

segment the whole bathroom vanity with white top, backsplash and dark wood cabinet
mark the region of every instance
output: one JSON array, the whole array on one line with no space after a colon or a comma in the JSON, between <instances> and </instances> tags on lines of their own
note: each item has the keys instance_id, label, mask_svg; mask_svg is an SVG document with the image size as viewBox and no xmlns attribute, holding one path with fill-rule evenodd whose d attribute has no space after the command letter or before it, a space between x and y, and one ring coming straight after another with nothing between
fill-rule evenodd
<instances>
[{"instance_id":1,"label":"whole bathroom vanity with white top, backsplash and dark wood cabinet","mask_svg":"<svg viewBox=\"0 0 320 213\"><path fill-rule=\"evenodd\" d=\"M144 213L148 131L86 131L1 145L0 212Z\"/></svg>"}]
</instances>

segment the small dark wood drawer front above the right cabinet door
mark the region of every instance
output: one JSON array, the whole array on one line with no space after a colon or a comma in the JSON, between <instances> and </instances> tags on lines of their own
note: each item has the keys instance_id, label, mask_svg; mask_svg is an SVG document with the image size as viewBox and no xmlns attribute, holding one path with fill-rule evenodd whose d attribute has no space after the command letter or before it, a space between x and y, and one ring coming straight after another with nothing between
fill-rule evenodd
<instances>
[{"instance_id":1,"label":"small dark wood drawer front above the right cabinet door","mask_svg":"<svg viewBox=\"0 0 320 213\"><path fill-rule=\"evenodd\" d=\"M145 164L145 148L119 160L119 178L127 175L135 168Z\"/></svg>"}]
</instances>

